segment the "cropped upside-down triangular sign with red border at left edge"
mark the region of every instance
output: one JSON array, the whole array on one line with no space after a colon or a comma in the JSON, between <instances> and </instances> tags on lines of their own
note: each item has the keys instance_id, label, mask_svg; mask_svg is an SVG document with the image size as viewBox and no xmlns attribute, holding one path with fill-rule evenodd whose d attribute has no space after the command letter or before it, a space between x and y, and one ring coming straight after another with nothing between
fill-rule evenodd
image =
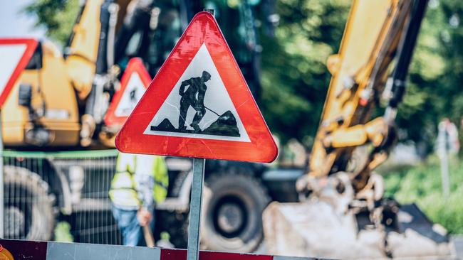
<instances>
[{"instance_id":1,"label":"cropped upside-down triangular sign with red border at left edge","mask_svg":"<svg viewBox=\"0 0 463 260\"><path fill-rule=\"evenodd\" d=\"M37 47L31 38L0 38L0 107Z\"/></svg>"}]
</instances>

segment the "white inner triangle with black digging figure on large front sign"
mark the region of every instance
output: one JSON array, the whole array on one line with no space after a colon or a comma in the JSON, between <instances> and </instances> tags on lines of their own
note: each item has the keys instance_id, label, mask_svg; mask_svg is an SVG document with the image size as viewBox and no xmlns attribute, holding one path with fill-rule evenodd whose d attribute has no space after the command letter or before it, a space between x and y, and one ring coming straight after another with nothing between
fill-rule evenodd
<instances>
[{"instance_id":1,"label":"white inner triangle with black digging figure on large front sign","mask_svg":"<svg viewBox=\"0 0 463 260\"><path fill-rule=\"evenodd\" d=\"M143 134L250 141L206 45L194 55Z\"/></svg>"}]
</instances>

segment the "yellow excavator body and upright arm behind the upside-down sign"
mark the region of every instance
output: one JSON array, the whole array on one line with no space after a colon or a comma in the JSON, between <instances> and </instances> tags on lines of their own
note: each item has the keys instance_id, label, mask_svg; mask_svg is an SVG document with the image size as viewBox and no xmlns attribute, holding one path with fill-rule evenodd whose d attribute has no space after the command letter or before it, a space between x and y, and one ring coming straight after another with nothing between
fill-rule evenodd
<instances>
[{"instance_id":1,"label":"yellow excavator body and upright arm behind the upside-down sign","mask_svg":"<svg viewBox=\"0 0 463 260\"><path fill-rule=\"evenodd\" d=\"M66 58L55 45L39 43L17 80L19 87L14 87L3 108L6 146L71 147L79 146L81 140L85 146L90 144L88 137L95 122L85 114L80 118L79 108L85 104L94 82L101 82L98 75L102 68L98 65L103 61L98 53L105 48L100 41L107 40L100 39L101 4L85 4L73 28ZM98 84L95 87L100 87Z\"/></svg>"}]
</instances>

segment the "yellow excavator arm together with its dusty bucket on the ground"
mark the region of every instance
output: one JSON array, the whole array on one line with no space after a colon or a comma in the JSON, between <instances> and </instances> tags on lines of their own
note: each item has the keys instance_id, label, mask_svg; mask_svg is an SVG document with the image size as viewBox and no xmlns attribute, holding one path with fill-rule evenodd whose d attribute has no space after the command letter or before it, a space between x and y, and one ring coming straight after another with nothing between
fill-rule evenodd
<instances>
[{"instance_id":1,"label":"yellow excavator arm together with its dusty bucket on the ground","mask_svg":"<svg viewBox=\"0 0 463 260\"><path fill-rule=\"evenodd\" d=\"M383 197L374 172L396 140L397 106L426 6L353 1L339 53L328 59L332 78L308 173L296 183L301 202L273 202L264 212L271 254L454 259L444 228L416 205Z\"/></svg>"}]
</instances>

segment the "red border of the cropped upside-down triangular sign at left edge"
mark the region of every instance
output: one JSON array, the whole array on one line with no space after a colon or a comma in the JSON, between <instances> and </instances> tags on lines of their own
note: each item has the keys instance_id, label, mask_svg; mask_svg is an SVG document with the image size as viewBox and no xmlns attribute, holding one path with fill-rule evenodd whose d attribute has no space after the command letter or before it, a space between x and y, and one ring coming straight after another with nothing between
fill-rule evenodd
<instances>
[{"instance_id":1,"label":"red border of the cropped upside-down triangular sign at left edge","mask_svg":"<svg viewBox=\"0 0 463 260\"><path fill-rule=\"evenodd\" d=\"M38 41L33 38L0 38L0 45L19 45L19 44L26 44L26 50L24 50L23 56L19 60L19 63L16 65L16 68L11 73L10 79L6 82L4 89L1 91L0 94L0 107L3 106L6 98L9 96L11 89L13 89L16 80L18 80L21 72L23 72L26 65L31 60L31 57L34 51L37 48ZM5 60L2 60L5 63Z\"/></svg>"}]
</instances>

